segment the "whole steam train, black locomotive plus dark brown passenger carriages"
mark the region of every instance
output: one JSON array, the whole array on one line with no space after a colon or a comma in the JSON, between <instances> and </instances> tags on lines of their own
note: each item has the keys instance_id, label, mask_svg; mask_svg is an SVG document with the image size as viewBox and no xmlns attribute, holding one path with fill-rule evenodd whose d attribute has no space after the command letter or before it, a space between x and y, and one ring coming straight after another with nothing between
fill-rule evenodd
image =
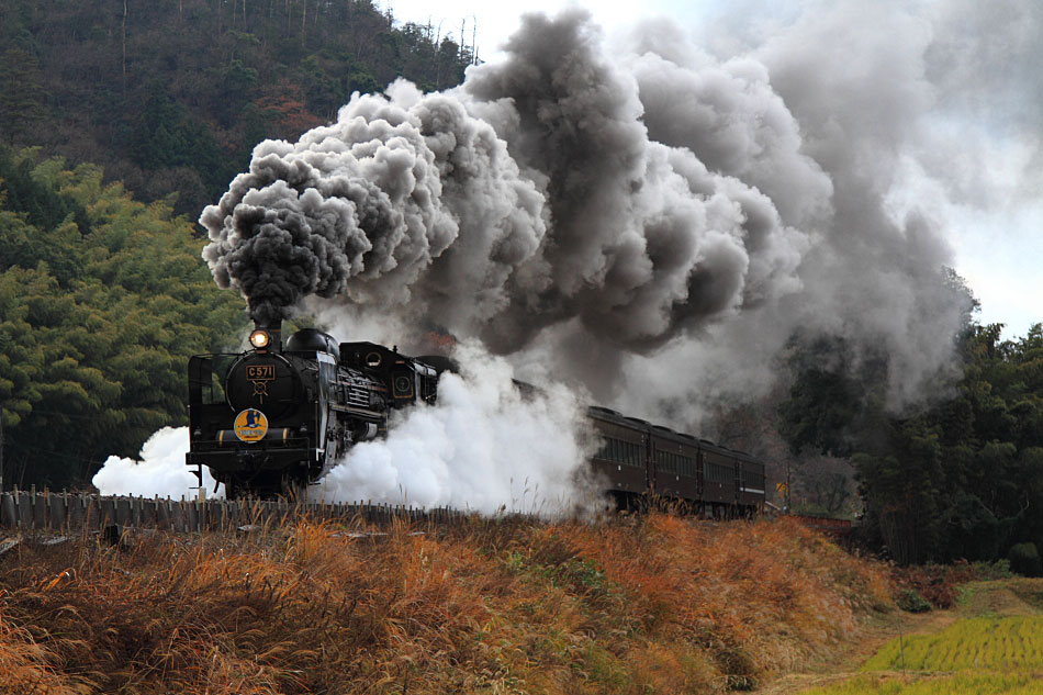
<instances>
[{"instance_id":1,"label":"whole steam train, black locomotive plus dark brown passenger carriages","mask_svg":"<svg viewBox=\"0 0 1043 695\"><path fill-rule=\"evenodd\" d=\"M389 414L433 403L441 356L412 358L372 343L337 343L258 327L251 349L189 359L188 466L210 468L228 497L300 494L352 445L386 433ZM524 385L524 384L523 384ZM527 386L531 389L531 386ZM603 407L587 408L602 441L591 467L620 508L648 500L707 517L764 506L764 464L752 457Z\"/></svg>"}]
</instances>

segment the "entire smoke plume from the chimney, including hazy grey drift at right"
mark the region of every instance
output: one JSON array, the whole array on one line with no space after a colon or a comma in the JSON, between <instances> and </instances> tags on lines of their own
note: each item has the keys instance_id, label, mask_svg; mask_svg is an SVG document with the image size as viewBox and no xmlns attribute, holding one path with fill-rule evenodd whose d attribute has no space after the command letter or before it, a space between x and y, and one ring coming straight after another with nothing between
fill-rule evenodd
<instances>
[{"instance_id":1,"label":"entire smoke plume from the chimney, including hazy grey drift at right","mask_svg":"<svg viewBox=\"0 0 1043 695\"><path fill-rule=\"evenodd\" d=\"M399 81L258 145L203 212L204 257L259 321L311 298L438 325L649 415L756 394L796 330L884 350L900 405L967 309L937 220L893 200L954 80L928 20L860 7L708 41L720 57L658 22L609 58L586 13L529 15L460 88Z\"/></svg>"}]
</instances>

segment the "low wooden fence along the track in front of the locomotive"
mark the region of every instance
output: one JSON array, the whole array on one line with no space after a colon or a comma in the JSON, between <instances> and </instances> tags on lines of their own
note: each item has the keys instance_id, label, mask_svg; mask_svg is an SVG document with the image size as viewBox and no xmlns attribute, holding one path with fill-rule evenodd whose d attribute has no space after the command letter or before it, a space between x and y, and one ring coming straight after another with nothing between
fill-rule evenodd
<instances>
[{"instance_id":1,"label":"low wooden fence along the track in front of the locomotive","mask_svg":"<svg viewBox=\"0 0 1043 695\"><path fill-rule=\"evenodd\" d=\"M362 520L385 525L450 523L466 518L447 508L367 503L295 503L255 500L171 500L169 497L101 497L89 494L14 491L0 493L0 528L18 530L98 530L115 526L177 533L224 530L290 518Z\"/></svg>"}]
</instances>

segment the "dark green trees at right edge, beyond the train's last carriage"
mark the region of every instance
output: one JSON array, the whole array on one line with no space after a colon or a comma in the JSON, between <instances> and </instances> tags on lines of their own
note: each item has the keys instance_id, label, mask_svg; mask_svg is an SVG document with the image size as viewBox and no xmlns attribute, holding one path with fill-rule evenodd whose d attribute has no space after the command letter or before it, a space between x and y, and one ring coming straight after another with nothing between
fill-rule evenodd
<instances>
[{"instance_id":1,"label":"dark green trees at right edge, beyond the train's last carriage","mask_svg":"<svg viewBox=\"0 0 1043 695\"><path fill-rule=\"evenodd\" d=\"M1043 326L1001 340L968 320L962 378L918 410L886 407L886 363L845 363L845 346L795 352L778 429L793 451L850 459L863 533L901 563L994 560L1043 571Z\"/></svg>"}]
</instances>

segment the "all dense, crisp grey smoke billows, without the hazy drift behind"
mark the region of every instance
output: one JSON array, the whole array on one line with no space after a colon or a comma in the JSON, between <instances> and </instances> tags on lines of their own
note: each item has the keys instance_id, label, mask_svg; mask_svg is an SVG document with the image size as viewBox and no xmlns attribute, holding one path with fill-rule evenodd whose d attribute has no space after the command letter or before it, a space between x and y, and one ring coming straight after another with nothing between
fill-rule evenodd
<instances>
[{"instance_id":1,"label":"all dense, crisp grey smoke billows, without the hazy drift behind","mask_svg":"<svg viewBox=\"0 0 1043 695\"><path fill-rule=\"evenodd\" d=\"M648 137L582 12L530 16L462 89L397 82L266 142L201 222L255 318L306 295L391 307L498 351L570 320L647 349L799 287L772 201Z\"/></svg>"}]
</instances>

